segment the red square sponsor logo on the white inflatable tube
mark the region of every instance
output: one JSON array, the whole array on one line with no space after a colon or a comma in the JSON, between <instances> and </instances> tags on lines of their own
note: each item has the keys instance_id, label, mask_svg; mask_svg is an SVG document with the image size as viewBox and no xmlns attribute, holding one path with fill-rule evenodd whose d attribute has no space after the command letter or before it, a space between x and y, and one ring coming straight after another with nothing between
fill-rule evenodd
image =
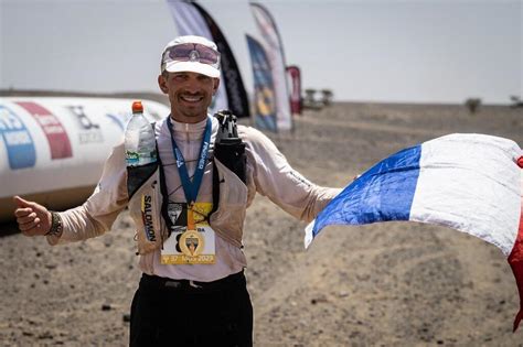
<instances>
[{"instance_id":1,"label":"red square sponsor logo on the white inflatable tube","mask_svg":"<svg viewBox=\"0 0 523 347\"><path fill-rule=\"evenodd\" d=\"M24 108L42 128L51 150L51 159L64 159L73 156L71 141L60 120L47 109L31 101L14 102Z\"/></svg>"}]
</instances>

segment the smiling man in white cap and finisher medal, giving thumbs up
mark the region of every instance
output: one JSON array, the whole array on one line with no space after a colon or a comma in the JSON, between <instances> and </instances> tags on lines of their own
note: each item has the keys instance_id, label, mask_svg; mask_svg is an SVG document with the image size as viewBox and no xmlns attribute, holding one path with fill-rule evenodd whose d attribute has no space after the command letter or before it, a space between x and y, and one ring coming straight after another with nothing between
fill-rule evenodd
<instances>
[{"instance_id":1,"label":"smiling man in white cap and finisher medal, giving thumbs up","mask_svg":"<svg viewBox=\"0 0 523 347\"><path fill-rule=\"evenodd\" d=\"M44 235L51 245L84 240L109 230L128 206L143 272L131 305L130 345L250 346L253 308L242 251L246 208L257 192L309 221L340 189L310 183L253 128L238 127L246 145L245 183L213 158L220 127L207 115L220 86L213 42L171 41L158 84L171 104L171 115L156 124L158 170L130 188L134 173L119 145L79 207L55 213L14 197L20 230ZM220 185L214 204L213 185Z\"/></svg>"}]
</instances>

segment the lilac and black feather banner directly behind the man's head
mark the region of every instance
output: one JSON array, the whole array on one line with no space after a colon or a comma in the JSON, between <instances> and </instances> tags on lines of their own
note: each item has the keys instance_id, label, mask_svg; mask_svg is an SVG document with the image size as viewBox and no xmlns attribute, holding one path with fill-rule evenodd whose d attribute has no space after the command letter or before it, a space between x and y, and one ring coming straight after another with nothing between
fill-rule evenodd
<instances>
[{"instance_id":1,"label":"lilac and black feather banner directly behind the man's head","mask_svg":"<svg viewBox=\"0 0 523 347\"><path fill-rule=\"evenodd\" d=\"M248 117L249 106L238 65L222 31L211 15L193 1L168 0L180 35L199 35L212 40L221 53L221 84L212 113L230 109L236 117Z\"/></svg>"}]
</instances>

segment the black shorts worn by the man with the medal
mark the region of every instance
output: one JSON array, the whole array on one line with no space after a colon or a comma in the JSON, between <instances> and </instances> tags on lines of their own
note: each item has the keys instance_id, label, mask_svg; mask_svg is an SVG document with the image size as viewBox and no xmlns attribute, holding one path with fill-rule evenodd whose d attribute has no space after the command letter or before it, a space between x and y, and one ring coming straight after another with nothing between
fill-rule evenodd
<instances>
[{"instance_id":1,"label":"black shorts worn by the man with the medal","mask_svg":"<svg viewBox=\"0 0 523 347\"><path fill-rule=\"evenodd\" d=\"M214 282L143 274L130 346L252 346L253 306L242 272Z\"/></svg>"}]
</instances>

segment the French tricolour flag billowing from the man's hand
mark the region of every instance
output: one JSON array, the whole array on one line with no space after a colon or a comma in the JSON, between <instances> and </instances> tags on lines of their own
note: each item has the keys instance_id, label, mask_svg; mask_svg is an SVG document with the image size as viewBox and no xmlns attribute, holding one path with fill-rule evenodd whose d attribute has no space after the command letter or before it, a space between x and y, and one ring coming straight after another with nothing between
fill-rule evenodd
<instances>
[{"instance_id":1,"label":"French tricolour flag billowing from the man's hand","mask_svg":"<svg viewBox=\"0 0 523 347\"><path fill-rule=\"evenodd\" d=\"M346 186L306 228L412 220L495 245L508 257L523 318L523 152L512 140L455 133L405 149Z\"/></svg>"}]
</instances>

